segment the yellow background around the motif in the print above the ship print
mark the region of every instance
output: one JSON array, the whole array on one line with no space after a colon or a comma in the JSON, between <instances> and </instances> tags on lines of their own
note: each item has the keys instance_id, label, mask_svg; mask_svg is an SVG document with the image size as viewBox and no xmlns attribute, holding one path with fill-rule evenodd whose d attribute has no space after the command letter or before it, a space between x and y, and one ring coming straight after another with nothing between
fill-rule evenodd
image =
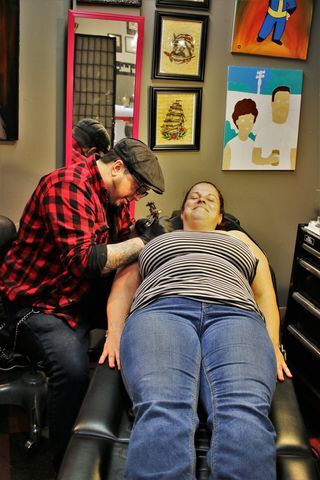
<instances>
[{"instance_id":1,"label":"yellow background around the motif in the print above the ship print","mask_svg":"<svg viewBox=\"0 0 320 480\"><path fill-rule=\"evenodd\" d=\"M197 75L199 73L199 50L201 39L202 22L194 20L169 20L164 19L162 23L160 73L171 73L175 75ZM188 34L194 38L194 58L189 63L171 62L166 52L172 51L171 42L173 34Z\"/></svg>"}]
</instances>

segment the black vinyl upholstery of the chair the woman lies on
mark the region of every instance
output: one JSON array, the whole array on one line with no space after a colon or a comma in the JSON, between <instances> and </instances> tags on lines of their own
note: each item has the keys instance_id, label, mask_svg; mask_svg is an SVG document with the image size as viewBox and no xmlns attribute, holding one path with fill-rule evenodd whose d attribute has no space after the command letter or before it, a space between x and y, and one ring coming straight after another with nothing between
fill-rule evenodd
<instances>
[{"instance_id":1,"label":"black vinyl upholstery of the chair the woman lies on","mask_svg":"<svg viewBox=\"0 0 320 480\"><path fill-rule=\"evenodd\" d=\"M179 212L174 212L171 221L174 228L182 227ZM226 229L243 230L239 221L229 214L226 215ZM274 275L273 279L275 281ZM124 478L133 421L130 406L121 374L107 365L99 365L74 426L58 480ZM277 479L319 479L291 380L278 382L270 418L277 433ZM206 453L209 442L210 434L201 422L195 438L198 480L208 479Z\"/></svg>"}]
</instances>

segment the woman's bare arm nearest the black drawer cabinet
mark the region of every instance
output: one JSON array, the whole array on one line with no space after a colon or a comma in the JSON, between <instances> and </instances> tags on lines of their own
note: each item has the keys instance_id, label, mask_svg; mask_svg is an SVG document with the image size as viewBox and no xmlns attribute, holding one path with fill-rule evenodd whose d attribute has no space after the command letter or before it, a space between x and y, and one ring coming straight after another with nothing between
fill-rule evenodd
<instances>
[{"instance_id":1,"label":"woman's bare arm nearest the black drawer cabinet","mask_svg":"<svg viewBox=\"0 0 320 480\"><path fill-rule=\"evenodd\" d=\"M264 315L267 331L275 350L278 380L284 380L283 373L291 378L292 374L280 351L280 315L268 260L260 248L245 233L232 231L231 234L249 245L255 257L259 260L251 288Z\"/></svg>"}]
</instances>

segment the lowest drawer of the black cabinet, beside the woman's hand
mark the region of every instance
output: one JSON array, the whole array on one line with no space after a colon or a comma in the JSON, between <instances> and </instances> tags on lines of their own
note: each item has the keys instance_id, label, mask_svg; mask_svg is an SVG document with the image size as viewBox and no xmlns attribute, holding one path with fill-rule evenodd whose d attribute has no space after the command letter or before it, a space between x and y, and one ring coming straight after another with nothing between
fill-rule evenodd
<instances>
[{"instance_id":1,"label":"lowest drawer of the black cabinet, beside the woman's hand","mask_svg":"<svg viewBox=\"0 0 320 480\"><path fill-rule=\"evenodd\" d=\"M284 347L292 374L298 376L320 402L320 349L293 325L285 332Z\"/></svg>"}]
</instances>

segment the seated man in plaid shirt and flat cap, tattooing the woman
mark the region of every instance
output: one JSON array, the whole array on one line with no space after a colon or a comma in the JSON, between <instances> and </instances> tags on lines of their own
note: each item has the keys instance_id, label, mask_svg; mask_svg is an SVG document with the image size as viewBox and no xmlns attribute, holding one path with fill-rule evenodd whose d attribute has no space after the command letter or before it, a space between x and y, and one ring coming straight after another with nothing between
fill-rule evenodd
<instances>
[{"instance_id":1,"label":"seated man in plaid shirt and flat cap, tattooing the woman","mask_svg":"<svg viewBox=\"0 0 320 480\"><path fill-rule=\"evenodd\" d=\"M106 328L114 272L158 233L152 225L129 238L129 203L149 189L163 193L162 171L136 139L121 140L98 160L53 171L28 201L0 269L8 329L45 366L56 469L88 386L89 331L97 321Z\"/></svg>"}]
</instances>

